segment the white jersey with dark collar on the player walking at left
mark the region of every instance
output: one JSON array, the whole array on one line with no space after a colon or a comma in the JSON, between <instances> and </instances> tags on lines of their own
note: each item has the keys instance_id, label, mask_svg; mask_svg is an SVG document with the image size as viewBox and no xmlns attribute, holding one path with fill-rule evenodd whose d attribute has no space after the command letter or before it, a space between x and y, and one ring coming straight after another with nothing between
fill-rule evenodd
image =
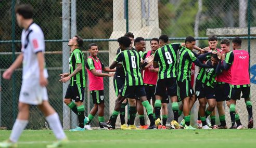
<instances>
[{"instance_id":1,"label":"white jersey with dark collar on the player walking at left","mask_svg":"<svg viewBox=\"0 0 256 148\"><path fill-rule=\"evenodd\" d=\"M22 79L39 78L39 64L37 52L45 51L44 34L40 26L32 23L28 30L23 29L21 34L21 51L23 53ZM44 77L48 77L46 68Z\"/></svg>"}]
</instances>

